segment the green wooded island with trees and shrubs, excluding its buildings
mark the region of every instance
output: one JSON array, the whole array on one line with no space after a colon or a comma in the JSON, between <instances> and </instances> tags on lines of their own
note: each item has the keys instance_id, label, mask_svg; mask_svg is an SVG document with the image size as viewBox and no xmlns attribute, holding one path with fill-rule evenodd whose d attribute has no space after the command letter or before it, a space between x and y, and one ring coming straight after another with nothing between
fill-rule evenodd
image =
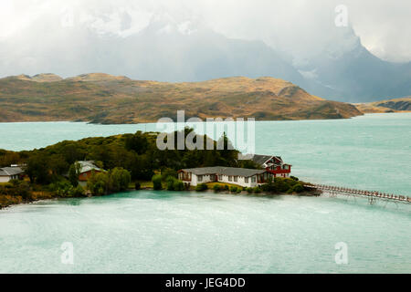
<instances>
[{"instance_id":1,"label":"green wooded island with trees and shrubs, excluding its buildings","mask_svg":"<svg viewBox=\"0 0 411 292\"><path fill-rule=\"evenodd\" d=\"M193 129L184 129L184 137ZM128 190L196 191L248 194L318 194L298 178L274 178L256 187L235 183L199 183L189 186L178 180L178 170L195 167L227 166L260 169L251 160L238 160L237 150L228 150L230 142L224 134L224 149L159 150L159 133L137 131L111 137L61 141L33 151L0 150L0 167L21 165L19 179L0 183L0 209L11 204L30 203L52 198L99 196ZM174 135L178 134L177 131ZM210 141L206 136L204 141ZM174 141L177 141L176 139ZM90 172L81 182L79 162L94 162L101 172Z\"/></svg>"}]
</instances>

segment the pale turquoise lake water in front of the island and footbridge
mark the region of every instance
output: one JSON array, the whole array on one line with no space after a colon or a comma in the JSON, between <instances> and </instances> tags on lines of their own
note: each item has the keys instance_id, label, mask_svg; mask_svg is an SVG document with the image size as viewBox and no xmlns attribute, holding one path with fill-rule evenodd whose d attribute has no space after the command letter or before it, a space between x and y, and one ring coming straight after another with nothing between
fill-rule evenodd
<instances>
[{"instance_id":1,"label":"pale turquoise lake water in front of the island and footbridge","mask_svg":"<svg viewBox=\"0 0 411 292\"><path fill-rule=\"evenodd\" d=\"M0 273L410 273L406 207L165 191L18 205L0 212Z\"/></svg>"}]
</instances>

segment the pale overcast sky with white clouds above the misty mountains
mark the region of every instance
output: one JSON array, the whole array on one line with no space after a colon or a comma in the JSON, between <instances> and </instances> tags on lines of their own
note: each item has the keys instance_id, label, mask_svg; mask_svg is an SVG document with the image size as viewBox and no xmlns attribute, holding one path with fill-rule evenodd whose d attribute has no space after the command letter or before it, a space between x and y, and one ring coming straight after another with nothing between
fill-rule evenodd
<instances>
[{"instance_id":1,"label":"pale overcast sky with white clouds above the misty mountains","mask_svg":"<svg viewBox=\"0 0 411 292\"><path fill-rule=\"evenodd\" d=\"M58 29L74 21L129 36L161 15L229 37L263 40L295 57L332 43L342 46L338 40L346 31L334 25L337 5L348 8L349 26L374 55L411 61L411 1L405 0L0 0L0 41L30 32L50 16L61 18Z\"/></svg>"}]
</instances>

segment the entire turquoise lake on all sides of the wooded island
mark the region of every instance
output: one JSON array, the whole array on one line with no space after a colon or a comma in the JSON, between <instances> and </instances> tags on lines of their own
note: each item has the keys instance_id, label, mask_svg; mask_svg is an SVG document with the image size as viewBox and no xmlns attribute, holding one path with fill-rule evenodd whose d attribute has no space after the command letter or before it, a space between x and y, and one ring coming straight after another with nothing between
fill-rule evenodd
<instances>
[{"instance_id":1,"label":"entire turquoise lake on all sides of the wooded island","mask_svg":"<svg viewBox=\"0 0 411 292\"><path fill-rule=\"evenodd\" d=\"M155 130L154 124L0 123L0 149ZM292 174L411 195L411 114L261 121L256 152ZM411 206L350 197L140 191L0 211L0 273L411 273ZM61 263L72 243L74 264ZM348 263L338 265L337 243Z\"/></svg>"}]
</instances>

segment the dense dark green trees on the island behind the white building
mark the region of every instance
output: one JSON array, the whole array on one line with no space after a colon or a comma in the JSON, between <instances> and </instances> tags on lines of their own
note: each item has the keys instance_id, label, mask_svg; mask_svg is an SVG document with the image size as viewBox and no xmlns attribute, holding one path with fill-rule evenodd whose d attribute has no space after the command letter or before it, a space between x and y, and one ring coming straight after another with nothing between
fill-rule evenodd
<instances>
[{"instance_id":1,"label":"dense dark green trees on the island behind the white building","mask_svg":"<svg viewBox=\"0 0 411 292\"><path fill-rule=\"evenodd\" d=\"M185 129L186 137L192 129ZM176 137L177 132L174 132ZM121 167L131 173L132 181L150 181L154 171L167 169L175 172L182 168L202 166L234 166L237 162L236 150L165 150L156 146L156 133L124 134L111 137L86 138L80 141L62 141L35 151L0 151L0 166L11 163L26 163L26 174L32 183L48 184L58 181L68 174L70 182L78 170L78 161L94 161L106 170ZM224 136L225 145L229 143ZM175 143L177 139L174 139ZM206 141L206 139L204 139ZM175 145L175 149L176 149ZM226 147L227 148L227 147ZM253 167L253 165L251 165Z\"/></svg>"}]
</instances>

